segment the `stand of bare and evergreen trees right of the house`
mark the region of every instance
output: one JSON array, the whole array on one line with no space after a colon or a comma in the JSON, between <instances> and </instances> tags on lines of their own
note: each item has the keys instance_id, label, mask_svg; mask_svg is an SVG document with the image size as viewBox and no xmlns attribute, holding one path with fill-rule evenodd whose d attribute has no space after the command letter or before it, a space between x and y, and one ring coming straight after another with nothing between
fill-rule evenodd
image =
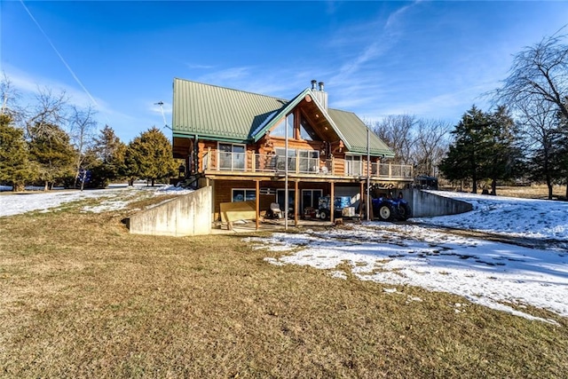
<instances>
[{"instance_id":1,"label":"stand of bare and evergreen trees right of the house","mask_svg":"<svg viewBox=\"0 0 568 379\"><path fill-rule=\"evenodd\" d=\"M544 37L518 52L500 88L485 93L493 109L475 105L459 122L390 115L368 126L416 175L455 184L544 183L568 198L568 45L565 35ZM487 189L489 192L489 189Z\"/></svg>"}]
</instances>

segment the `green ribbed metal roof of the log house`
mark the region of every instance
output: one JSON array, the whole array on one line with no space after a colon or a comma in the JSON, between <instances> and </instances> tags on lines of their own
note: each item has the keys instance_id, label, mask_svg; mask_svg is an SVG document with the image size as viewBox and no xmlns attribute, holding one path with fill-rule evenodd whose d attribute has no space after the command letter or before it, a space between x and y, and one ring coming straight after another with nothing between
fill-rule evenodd
<instances>
[{"instance_id":1,"label":"green ribbed metal roof of the log house","mask_svg":"<svg viewBox=\"0 0 568 379\"><path fill-rule=\"evenodd\" d=\"M311 91L306 89L295 99L286 100L178 78L174 79L173 87L174 136L241 142L258 140ZM367 154L367 125L356 114L321 110L348 150ZM394 156L375 133L371 133L369 139L371 154Z\"/></svg>"}]
</instances>

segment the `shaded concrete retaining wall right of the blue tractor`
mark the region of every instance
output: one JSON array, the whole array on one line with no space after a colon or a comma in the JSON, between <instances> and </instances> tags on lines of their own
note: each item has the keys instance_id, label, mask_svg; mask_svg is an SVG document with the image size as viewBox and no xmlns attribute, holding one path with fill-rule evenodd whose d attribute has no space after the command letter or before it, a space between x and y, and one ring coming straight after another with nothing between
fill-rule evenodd
<instances>
[{"instance_id":1,"label":"shaded concrete retaining wall right of the blue tractor","mask_svg":"<svg viewBox=\"0 0 568 379\"><path fill-rule=\"evenodd\" d=\"M439 196L438 194L418 189L406 189L399 192L402 192L405 199L410 202L412 217L457 215L473 209L469 202ZM398 192L393 193L393 196L397 196L397 194Z\"/></svg>"}]
</instances>

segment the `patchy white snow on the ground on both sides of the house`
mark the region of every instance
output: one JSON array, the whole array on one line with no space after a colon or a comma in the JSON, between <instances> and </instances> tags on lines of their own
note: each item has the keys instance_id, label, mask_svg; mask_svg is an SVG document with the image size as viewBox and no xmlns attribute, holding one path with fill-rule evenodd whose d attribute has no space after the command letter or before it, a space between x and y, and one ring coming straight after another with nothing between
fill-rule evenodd
<instances>
[{"instance_id":1,"label":"patchy white snow on the ground on both sides of the house","mask_svg":"<svg viewBox=\"0 0 568 379\"><path fill-rule=\"evenodd\" d=\"M50 211L65 202L88 198L98 198L99 205L84 206L82 211L110 211L171 191L180 189L119 186L84 192L4 193L0 195L0 217ZM568 317L568 202L439 194L469 201L474 209L462 215L415 218L410 225L364 222L327 231L273 233L270 238L248 241L256 249L281 251L277 259L266 258L274 265L312 265L344 278L345 272L337 265L347 263L360 280L449 292L533 320L543 319L531 315L525 305ZM538 249L531 249L446 233L430 225L540 243ZM404 296L396 288L385 288L385 292ZM421 299L409 297L408 301ZM455 312L467 312L466 303L453 305Z\"/></svg>"}]
</instances>

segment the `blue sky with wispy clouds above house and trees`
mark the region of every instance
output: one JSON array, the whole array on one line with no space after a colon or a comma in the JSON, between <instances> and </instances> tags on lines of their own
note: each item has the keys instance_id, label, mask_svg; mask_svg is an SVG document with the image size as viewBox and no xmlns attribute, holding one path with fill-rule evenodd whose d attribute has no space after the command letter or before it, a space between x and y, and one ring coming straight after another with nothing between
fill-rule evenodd
<instances>
[{"instance_id":1,"label":"blue sky with wispy clouds above house and trees","mask_svg":"<svg viewBox=\"0 0 568 379\"><path fill-rule=\"evenodd\" d=\"M568 2L6 1L2 71L24 95L64 90L129 142L171 122L174 77L329 106L459 121L512 55L568 23ZM568 27L567 27L568 28ZM568 30L564 29L568 32ZM170 130L164 129L170 136Z\"/></svg>"}]
</instances>

